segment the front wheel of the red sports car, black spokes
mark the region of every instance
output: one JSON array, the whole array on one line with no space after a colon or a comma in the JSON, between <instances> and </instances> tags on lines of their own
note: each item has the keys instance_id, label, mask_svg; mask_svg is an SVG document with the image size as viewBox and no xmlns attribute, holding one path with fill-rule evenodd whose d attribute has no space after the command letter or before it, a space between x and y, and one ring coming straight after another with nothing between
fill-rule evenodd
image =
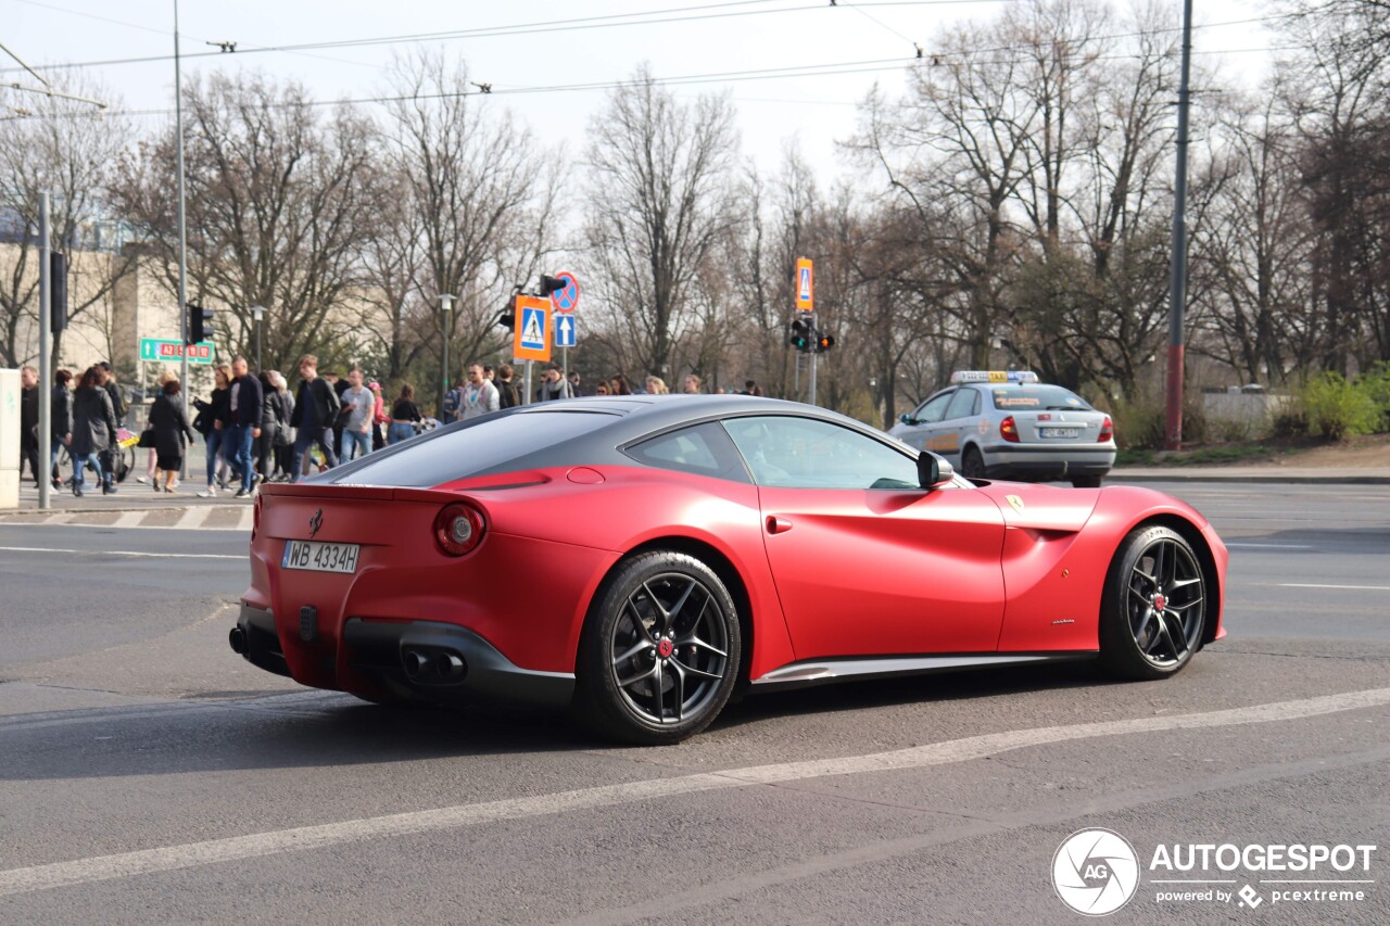
<instances>
[{"instance_id":1,"label":"front wheel of the red sports car, black spokes","mask_svg":"<svg viewBox=\"0 0 1390 926\"><path fill-rule=\"evenodd\" d=\"M1137 527L1119 546L1101 599L1101 663L1120 679L1168 679L1201 647L1207 580L1191 544Z\"/></svg>"}]
</instances>

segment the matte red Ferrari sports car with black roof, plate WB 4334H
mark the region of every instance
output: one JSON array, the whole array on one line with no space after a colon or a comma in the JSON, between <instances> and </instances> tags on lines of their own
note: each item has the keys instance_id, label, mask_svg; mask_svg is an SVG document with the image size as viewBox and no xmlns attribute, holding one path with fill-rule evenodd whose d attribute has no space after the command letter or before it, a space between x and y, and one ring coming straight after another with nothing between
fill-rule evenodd
<instances>
[{"instance_id":1,"label":"matte red Ferrari sports car with black roof, plate WB 4334H","mask_svg":"<svg viewBox=\"0 0 1390 926\"><path fill-rule=\"evenodd\" d=\"M546 402L256 501L231 631L370 701L573 705L676 742L735 687L1099 658L1180 670L1223 635L1226 548L1144 488L966 481L823 409Z\"/></svg>"}]
</instances>

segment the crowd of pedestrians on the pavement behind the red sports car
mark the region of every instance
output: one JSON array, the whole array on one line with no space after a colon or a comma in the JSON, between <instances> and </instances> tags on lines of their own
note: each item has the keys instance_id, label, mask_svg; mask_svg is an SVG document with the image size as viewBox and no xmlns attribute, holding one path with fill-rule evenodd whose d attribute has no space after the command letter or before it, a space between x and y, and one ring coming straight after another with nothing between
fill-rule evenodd
<instances>
[{"instance_id":1,"label":"crowd of pedestrians on the pavement behind the red sports car","mask_svg":"<svg viewBox=\"0 0 1390 926\"><path fill-rule=\"evenodd\" d=\"M220 491L232 492L235 487L236 498L247 498L264 482L296 482L310 471L332 469L400 444L431 424L416 405L410 384L400 385L388 410L381 384L367 382L360 367L349 370L346 377L320 374L318 357L304 355L299 359L297 373L297 387L291 391L289 382L277 370L253 375L243 356L234 357L229 364L217 364L211 395L192 402L197 410L192 421L181 400L178 377L172 373L161 375L147 425L139 435L139 446L149 449L149 460L145 476L136 481L156 492L175 492L185 450L195 444L197 432L203 435L207 455L207 485L197 495L211 498ZM38 484L44 478L39 476L39 374L25 366L19 380L22 460ZM646 377L644 385L645 391L632 389L627 377L617 373L598 382L592 395L670 392L656 375ZM523 403L523 389L510 363L496 368L471 363L467 380L445 393L439 417L448 424L510 409ZM682 393L702 391L699 375L691 373L681 380ZM763 395L762 387L752 380L738 392ZM559 364L550 363L543 367L531 398L534 402L550 402L581 395L580 374L573 370L566 374ZM64 484L58 457L65 449L72 460L74 495L83 495L89 469L103 494L117 491L118 431L126 412L128 405L110 363L96 363L81 374L70 370L54 374L47 471L54 488Z\"/></svg>"}]
</instances>

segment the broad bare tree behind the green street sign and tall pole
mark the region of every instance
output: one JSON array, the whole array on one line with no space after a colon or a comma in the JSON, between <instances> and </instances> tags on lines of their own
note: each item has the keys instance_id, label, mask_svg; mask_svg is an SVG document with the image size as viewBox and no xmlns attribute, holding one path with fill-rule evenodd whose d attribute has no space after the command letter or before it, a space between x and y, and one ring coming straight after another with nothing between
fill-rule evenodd
<instances>
[{"instance_id":1,"label":"broad bare tree behind the green street sign and tall pole","mask_svg":"<svg viewBox=\"0 0 1390 926\"><path fill-rule=\"evenodd\" d=\"M221 310L234 352L253 341L252 306L265 307L267 366L306 350L348 353L359 253L371 234L373 125L346 106L321 117L302 86L261 75L217 74L183 96L190 300ZM171 292L174 154L168 132L126 163L120 185ZM339 320L342 328L331 327Z\"/></svg>"}]
</instances>

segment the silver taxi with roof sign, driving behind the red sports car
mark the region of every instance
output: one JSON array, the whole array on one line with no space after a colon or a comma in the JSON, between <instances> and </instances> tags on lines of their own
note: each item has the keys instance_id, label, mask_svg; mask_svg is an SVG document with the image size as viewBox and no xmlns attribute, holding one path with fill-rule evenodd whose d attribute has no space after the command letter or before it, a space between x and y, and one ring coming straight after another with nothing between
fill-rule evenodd
<instances>
[{"instance_id":1,"label":"silver taxi with roof sign, driving behind the red sports car","mask_svg":"<svg viewBox=\"0 0 1390 926\"><path fill-rule=\"evenodd\" d=\"M958 370L888 431L967 478L1069 480L1095 488L1115 466L1111 417L1030 370Z\"/></svg>"}]
</instances>

